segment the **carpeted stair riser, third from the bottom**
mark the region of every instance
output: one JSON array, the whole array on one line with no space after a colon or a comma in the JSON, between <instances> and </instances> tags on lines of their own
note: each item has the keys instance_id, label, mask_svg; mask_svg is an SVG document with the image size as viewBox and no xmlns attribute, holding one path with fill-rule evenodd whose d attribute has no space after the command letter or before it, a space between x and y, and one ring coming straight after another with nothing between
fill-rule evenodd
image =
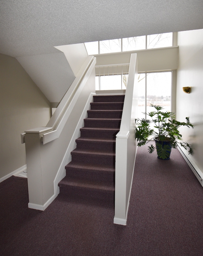
<instances>
[{"instance_id":1,"label":"carpeted stair riser, third from the bottom","mask_svg":"<svg viewBox=\"0 0 203 256\"><path fill-rule=\"evenodd\" d=\"M81 154L73 154L72 155L72 162L75 163L84 163L84 164L96 164L96 165L104 165L111 168L115 168L115 156L100 156L100 155L81 155Z\"/></svg>"}]
</instances>

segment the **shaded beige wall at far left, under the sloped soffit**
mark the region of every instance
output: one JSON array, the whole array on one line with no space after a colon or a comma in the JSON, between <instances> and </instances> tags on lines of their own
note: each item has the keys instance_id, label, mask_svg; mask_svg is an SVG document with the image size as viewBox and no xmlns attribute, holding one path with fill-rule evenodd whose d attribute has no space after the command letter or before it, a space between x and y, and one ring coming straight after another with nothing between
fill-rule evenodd
<instances>
[{"instance_id":1,"label":"shaded beige wall at far left, under the sloped soffit","mask_svg":"<svg viewBox=\"0 0 203 256\"><path fill-rule=\"evenodd\" d=\"M25 130L46 126L50 102L19 62L0 54L0 179L25 165Z\"/></svg>"}]
</instances>

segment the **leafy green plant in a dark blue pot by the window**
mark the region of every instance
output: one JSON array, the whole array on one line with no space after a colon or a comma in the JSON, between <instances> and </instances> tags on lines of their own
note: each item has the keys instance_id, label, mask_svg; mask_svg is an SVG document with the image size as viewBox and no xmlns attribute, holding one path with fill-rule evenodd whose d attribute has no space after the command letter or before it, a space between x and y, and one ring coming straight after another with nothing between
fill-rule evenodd
<instances>
[{"instance_id":1,"label":"leafy green plant in a dark blue pot by the window","mask_svg":"<svg viewBox=\"0 0 203 256\"><path fill-rule=\"evenodd\" d=\"M135 119L136 131L135 138L137 138L137 145L145 145L152 139L155 141L154 145L148 146L148 152L157 151L157 157L160 159L169 159L172 148L177 148L178 144L185 149L189 149L189 154L192 154L192 148L187 142L181 142L182 135L178 131L180 126L192 127L189 118L186 117L187 122L179 122L175 120L173 112L163 111L163 107L150 104L154 107L154 111L147 114L151 120ZM153 123L154 126L150 126ZM152 136L152 137L151 137ZM148 140L148 138L150 139Z\"/></svg>"}]
</instances>

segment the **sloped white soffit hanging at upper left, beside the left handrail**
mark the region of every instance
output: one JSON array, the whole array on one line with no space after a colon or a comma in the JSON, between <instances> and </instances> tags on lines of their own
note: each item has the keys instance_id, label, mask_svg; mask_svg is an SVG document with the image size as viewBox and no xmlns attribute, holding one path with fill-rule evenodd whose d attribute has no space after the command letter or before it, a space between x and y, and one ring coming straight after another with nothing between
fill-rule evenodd
<instances>
[{"instance_id":1,"label":"sloped white soffit hanging at upper left, beside the left handrail","mask_svg":"<svg viewBox=\"0 0 203 256\"><path fill-rule=\"evenodd\" d=\"M64 54L22 56L17 60L50 102L59 103L75 79Z\"/></svg>"}]
</instances>

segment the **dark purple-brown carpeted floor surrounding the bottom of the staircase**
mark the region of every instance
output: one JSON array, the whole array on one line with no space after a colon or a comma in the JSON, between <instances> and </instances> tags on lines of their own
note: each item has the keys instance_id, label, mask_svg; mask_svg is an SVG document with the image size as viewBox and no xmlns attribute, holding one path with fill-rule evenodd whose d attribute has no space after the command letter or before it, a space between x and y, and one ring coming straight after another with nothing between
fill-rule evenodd
<instances>
[{"instance_id":1,"label":"dark purple-brown carpeted floor surrounding the bottom of the staircase","mask_svg":"<svg viewBox=\"0 0 203 256\"><path fill-rule=\"evenodd\" d=\"M0 255L203 255L203 188L180 152L138 148L127 226L114 209L67 201L29 209L27 180L0 183Z\"/></svg>"}]
</instances>

